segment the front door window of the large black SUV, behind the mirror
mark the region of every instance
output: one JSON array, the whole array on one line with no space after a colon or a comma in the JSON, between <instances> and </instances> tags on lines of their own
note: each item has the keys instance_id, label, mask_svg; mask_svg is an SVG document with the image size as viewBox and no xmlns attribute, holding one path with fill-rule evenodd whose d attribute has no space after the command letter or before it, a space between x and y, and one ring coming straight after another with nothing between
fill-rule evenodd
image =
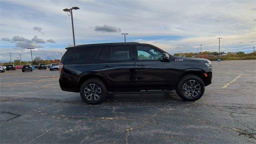
<instances>
[{"instance_id":1,"label":"front door window of the large black SUV, behind the mirror","mask_svg":"<svg viewBox=\"0 0 256 144\"><path fill-rule=\"evenodd\" d=\"M160 60L162 52L149 46L137 46L138 60Z\"/></svg>"}]
</instances>

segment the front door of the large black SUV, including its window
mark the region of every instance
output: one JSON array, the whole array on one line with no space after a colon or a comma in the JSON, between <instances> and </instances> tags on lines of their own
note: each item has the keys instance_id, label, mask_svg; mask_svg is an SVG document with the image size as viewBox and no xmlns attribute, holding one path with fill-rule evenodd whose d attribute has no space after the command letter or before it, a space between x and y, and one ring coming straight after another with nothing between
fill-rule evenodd
<instances>
[{"instance_id":1,"label":"front door of the large black SUV, including its window","mask_svg":"<svg viewBox=\"0 0 256 144\"><path fill-rule=\"evenodd\" d=\"M174 85L174 61L162 62L162 53L149 46L137 46L135 65L136 86L159 90Z\"/></svg>"}]
</instances>

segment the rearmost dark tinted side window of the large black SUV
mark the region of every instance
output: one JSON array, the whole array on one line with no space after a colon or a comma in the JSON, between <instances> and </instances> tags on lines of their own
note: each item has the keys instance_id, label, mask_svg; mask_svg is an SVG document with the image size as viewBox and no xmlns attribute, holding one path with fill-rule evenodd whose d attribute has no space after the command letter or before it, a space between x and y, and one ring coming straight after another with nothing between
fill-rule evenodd
<instances>
[{"instance_id":1,"label":"rearmost dark tinted side window of the large black SUV","mask_svg":"<svg viewBox=\"0 0 256 144\"><path fill-rule=\"evenodd\" d=\"M69 48L62 57L63 64L91 63L101 47Z\"/></svg>"}]
</instances>

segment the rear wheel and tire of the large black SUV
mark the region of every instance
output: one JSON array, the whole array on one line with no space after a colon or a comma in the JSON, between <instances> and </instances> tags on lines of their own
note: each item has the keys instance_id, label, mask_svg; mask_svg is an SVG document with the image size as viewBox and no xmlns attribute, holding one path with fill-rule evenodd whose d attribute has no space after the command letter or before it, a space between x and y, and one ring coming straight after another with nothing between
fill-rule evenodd
<instances>
[{"instance_id":1,"label":"rear wheel and tire of the large black SUV","mask_svg":"<svg viewBox=\"0 0 256 144\"><path fill-rule=\"evenodd\" d=\"M91 92L92 89L94 92ZM87 104L99 104L106 98L107 88L101 80L92 78L82 84L80 96Z\"/></svg>"}]
</instances>

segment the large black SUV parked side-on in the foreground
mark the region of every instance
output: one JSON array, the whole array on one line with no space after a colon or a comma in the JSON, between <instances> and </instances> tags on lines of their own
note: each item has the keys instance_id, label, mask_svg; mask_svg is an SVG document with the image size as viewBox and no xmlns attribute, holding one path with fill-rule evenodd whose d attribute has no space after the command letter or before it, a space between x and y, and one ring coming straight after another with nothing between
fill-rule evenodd
<instances>
[{"instance_id":1,"label":"large black SUV parked side-on in the foreground","mask_svg":"<svg viewBox=\"0 0 256 144\"><path fill-rule=\"evenodd\" d=\"M102 102L107 94L172 90L183 100L194 101L212 83L209 60L175 57L150 44L87 44L66 49L60 63L60 87L80 92L89 104Z\"/></svg>"}]
</instances>

